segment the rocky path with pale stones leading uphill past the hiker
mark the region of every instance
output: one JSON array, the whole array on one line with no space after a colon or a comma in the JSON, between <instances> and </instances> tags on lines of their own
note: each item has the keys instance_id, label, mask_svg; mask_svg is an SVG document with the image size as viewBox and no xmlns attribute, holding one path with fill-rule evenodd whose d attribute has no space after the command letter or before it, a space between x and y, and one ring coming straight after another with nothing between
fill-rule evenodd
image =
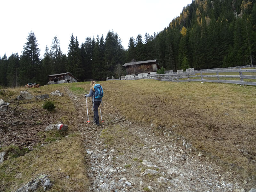
<instances>
[{"instance_id":1,"label":"rocky path with pale stones leading uphill past the hiker","mask_svg":"<svg viewBox=\"0 0 256 192\"><path fill-rule=\"evenodd\" d=\"M176 143L168 133L124 120L106 102L101 108L103 125L86 123L85 98L66 91L80 119L76 128L84 136L90 191L243 192L251 189L246 186L246 180L223 171L203 155L192 153L189 145ZM91 100L87 102L92 121Z\"/></svg>"}]
</instances>

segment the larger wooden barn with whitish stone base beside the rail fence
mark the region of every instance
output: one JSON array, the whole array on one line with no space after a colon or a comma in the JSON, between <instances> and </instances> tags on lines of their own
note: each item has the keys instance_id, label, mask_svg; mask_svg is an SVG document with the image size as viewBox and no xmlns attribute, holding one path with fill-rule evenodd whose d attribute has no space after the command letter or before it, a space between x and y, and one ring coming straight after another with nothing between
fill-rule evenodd
<instances>
[{"instance_id":1,"label":"larger wooden barn with whitish stone base beside the rail fence","mask_svg":"<svg viewBox=\"0 0 256 192\"><path fill-rule=\"evenodd\" d=\"M126 68L126 75L156 72L157 69L160 69L156 59L125 63L122 66Z\"/></svg>"}]
</instances>

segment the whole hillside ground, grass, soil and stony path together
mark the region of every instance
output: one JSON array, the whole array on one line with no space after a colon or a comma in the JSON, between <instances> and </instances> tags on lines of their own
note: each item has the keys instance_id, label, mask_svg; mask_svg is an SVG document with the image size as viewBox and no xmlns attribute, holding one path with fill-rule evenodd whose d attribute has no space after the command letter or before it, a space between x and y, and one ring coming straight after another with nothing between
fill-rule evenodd
<instances>
[{"instance_id":1,"label":"whole hillside ground, grass, soil and stony path together","mask_svg":"<svg viewBox=\"0 0 256 192\"><path fill-rule=\"evenodd\" d=\"M41 107L44 101L32 99L20 101L12 113L24 88L1 90L1 99L10 103L0 112L0 152L9 154L0 164L1 191L15 191L42 173L51 177L49 191L255 187L255 87L153 80L100 84L100 127L86 122L88 83L28 90L32 95L63 92L48 99L56 105L52 112ZM44 131L59 121L68 125L67 132Z\"/></svg>"}]
</instances>

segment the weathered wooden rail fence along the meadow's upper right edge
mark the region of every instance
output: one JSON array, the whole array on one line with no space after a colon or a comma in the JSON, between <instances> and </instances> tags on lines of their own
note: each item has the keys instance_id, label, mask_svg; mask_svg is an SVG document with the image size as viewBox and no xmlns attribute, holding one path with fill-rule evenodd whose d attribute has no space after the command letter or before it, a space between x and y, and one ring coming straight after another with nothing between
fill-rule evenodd
<instances>
[{"instance_id":1,"label":"weathered wooden rail fence along the meadow's upper right edge","mask_svg":"<svg viewBox=\"0 0 256 192\"><path fill-rule=\"evenodd\" d=\"M216 75L212 73L216 73ZM221 74L221 73L225 73L225 74ZM226 73L229 73L229 74L226 75ZM155 79L159 81L172 81L172 82L199 81L199 82L214 82L214 83L232 83L232 84L256 86L256 80L255 80L256 69L228 69L228 70L211 70L211 71L200 70L200 71L194 71L194 72L184 72L181 74L147 75L147 78L145 79Z\"/></svg>"}]
</instances>

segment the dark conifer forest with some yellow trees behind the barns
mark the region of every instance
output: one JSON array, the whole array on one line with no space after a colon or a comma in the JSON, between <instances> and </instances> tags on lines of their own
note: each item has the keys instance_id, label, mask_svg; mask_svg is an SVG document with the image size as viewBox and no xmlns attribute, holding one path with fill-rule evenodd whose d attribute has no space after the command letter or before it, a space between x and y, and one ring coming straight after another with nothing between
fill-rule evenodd
<instances>
[{"instance_id":1,"label":"dark conifer forest with some yellow trees behind the barns","mask_svg":"<svg viewBox=\"0 0 256 192\"><path fill-rule=\"evenodd\" d=\"M118 32L110 30L106 37L87 37L80 43L71 34L63 54L54 36L42 56L35 34L28 31L21 55L0 57L0 85L45 85L46 76L64 72L78 80L106 80L117 77L118 68L132 60L157 59L160 67L174 72L256 64L256 0L193 0L166 26L157 34L131 37L128 49Z\"/></svg>"}]
</instances>

